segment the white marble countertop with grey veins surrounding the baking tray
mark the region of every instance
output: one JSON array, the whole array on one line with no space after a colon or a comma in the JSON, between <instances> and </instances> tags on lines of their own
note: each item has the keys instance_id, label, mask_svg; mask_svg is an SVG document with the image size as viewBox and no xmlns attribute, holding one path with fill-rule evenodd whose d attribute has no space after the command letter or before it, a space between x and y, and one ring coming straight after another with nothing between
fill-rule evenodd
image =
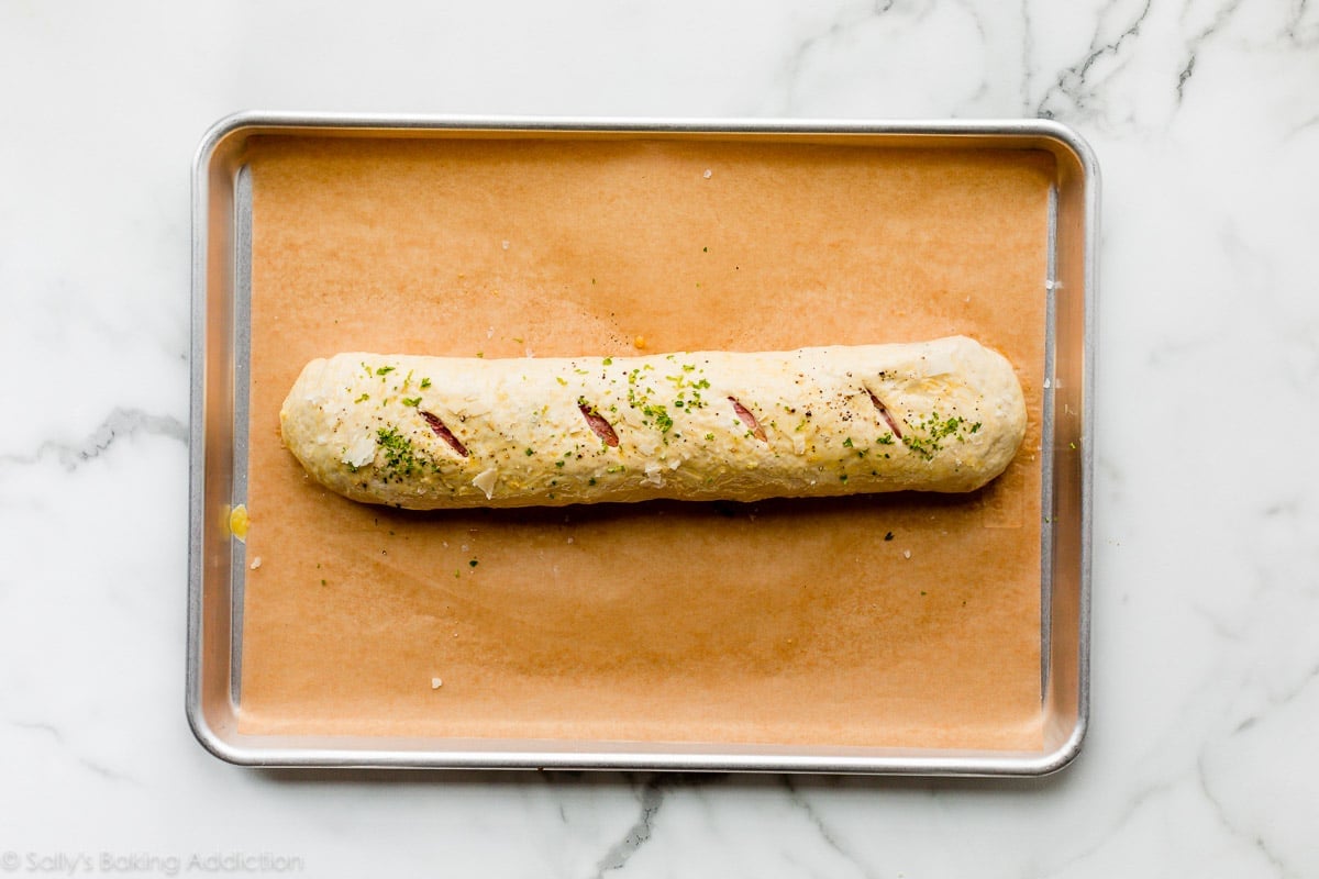
<instances>
[{"instance_id":1,"label":"white marble countertop with grey veins surrounding the baking tray","mask_svg":"<svg viewBox=\"0 0 1319 879\"><path fill-rule=\"evenodd\" d=\"M1319 4L798 5L0 3L0 868L1319 875ZM993 781L203 751L189 166L245 108L1074 127L1104 171L1082 756Z\"/></svg>"}]
</instances>

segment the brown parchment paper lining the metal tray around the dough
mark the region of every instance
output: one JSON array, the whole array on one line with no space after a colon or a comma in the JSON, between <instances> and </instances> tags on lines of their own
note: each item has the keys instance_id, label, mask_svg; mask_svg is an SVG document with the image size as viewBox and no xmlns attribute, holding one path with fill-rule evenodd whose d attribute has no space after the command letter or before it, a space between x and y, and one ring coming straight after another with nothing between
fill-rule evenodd
<instances>
[{"instance_id":1,"label":"brown parchment paper lining the metal tray around the dough","mask_svg":"<svg viewBox=\"0 0 1319 879\"><path fill-rule=\"evenodd\" d=\"M272 136L244 162L244 734L1041 749L1053 154ZM336 351L952 332L1013 361L1031 424L968 497L418 515L314 488L277 436L298 369Z\"/></svg>"}]
</instances>

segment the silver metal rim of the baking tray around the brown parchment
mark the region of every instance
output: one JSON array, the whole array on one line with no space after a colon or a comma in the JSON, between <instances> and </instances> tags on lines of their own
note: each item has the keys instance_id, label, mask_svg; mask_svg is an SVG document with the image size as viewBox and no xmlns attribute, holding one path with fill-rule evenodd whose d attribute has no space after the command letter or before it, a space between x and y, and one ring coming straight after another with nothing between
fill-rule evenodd
<instances>
[{"instance_id":1,"label":"silver metal rim of the baking tray around the brown parchment","mask_svg":"<svg viewBox=\"0 0 1319 879\"><path fill-rule=\"evenodd\" d=\"M1045 149L1058 158L1057 236L1050 277L1053 416L1045 438L1043 530L1046 746L1041 751L772 749L644 743L274 738L237 731L233 687L239 658L233 559L224 532L235 497L232 463L243 455L233 415L241 397L233 295L245 261L235 210L243 146L260 133L427 136L434 132L867 134L894 144ZM1072 129L1051 120L856 121L719 119L547 119L360 116L244 112L218 121L193 162L191 407L186 716L210 752L244 766L386 768L587 768L839 772L943 776L1041 776L1080 752L1089 721L1089 589L1093 448L1095 297L1097 294L1099 165ZM1078 295L1079 290L1079 295ZM237 390L236 390L237 389ZM227 430L228 428L228 430ZM1059 527L1058 511L1070 525ZM1059 576L1060 575L1060 576Z\"/></svg>"}]
</instances>

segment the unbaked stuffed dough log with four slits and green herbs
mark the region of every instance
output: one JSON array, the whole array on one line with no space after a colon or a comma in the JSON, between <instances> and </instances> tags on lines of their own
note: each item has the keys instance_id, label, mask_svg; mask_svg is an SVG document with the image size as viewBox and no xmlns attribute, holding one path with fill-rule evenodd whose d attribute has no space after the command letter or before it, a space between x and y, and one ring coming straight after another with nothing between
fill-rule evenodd
<instances>
[{"instance_id":1,"label":"unbaked stuffed dough log with four slits and green herbs","mask_svg":"<svg viewBox=\"0 0 1319 879\"><path fill-rule=\"evenodd\" d=\"M1008 467L1012 365L917 344L483 360L344 353L302 370L284 441L318 482L431 510L969 492Z\"/></svg>"}]
</instances>

